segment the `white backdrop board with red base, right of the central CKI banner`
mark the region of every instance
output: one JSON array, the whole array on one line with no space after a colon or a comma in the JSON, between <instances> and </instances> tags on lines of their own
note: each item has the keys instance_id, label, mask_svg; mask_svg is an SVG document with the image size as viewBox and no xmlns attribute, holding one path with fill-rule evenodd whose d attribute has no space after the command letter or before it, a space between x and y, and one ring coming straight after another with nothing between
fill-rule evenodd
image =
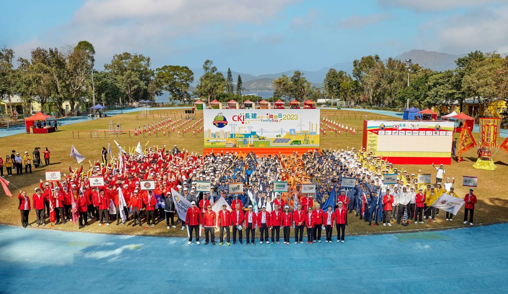
<instances>
[{"instance_id":1,"label":"white backdrop board with red base, right of the central CKI banner","mask_svg":"<svg viewBox=\"0 0 508 294\"><path fill-rule=\"evenodd\" d=\"M364 121L363 147L394 164L450 164L454 122Z\"/></svg>"}]
</instances>

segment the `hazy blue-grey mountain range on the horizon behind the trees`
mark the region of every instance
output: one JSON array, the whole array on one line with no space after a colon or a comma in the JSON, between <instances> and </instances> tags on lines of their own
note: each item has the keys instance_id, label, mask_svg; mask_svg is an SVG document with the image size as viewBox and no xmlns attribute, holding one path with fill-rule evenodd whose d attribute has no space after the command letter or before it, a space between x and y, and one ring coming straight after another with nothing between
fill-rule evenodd
<instances>
[{"instance_id":1,"label":"hazy blue-grey mountain range on the horizon behind the trees","mask_svg":"<svg viewBox=\"0 0 508 294\"><path fill-rule=\"evenodd\" d=\"M420 64L423 67L430 68L436 71L444 71L447 69L454 69L456 67L455 60L459 57L466 56L467 54L447 54L435 51L425 51L425 50L411 50L409 52L404 52L400 55L393 57L394 59L400 59L405 61L406 59L411 59L412 63ZM360 58L360 57L359 57ZM274 79L282 76L282 73L285 73L287 76L293 76L295 70L300 70L307 79L307 81L311 82L313 85L317 87L323 86L323 80L326 77L326 73L330 68L335 68L336 70L344 70L347 73L352 73L353 71L353 60L350 62L340 62L331 66L323 67L316 71L311 70L302 70L302 69L292 69L283 72L277 73L267 73L265 75L253 76L249 73L236 72L231 71L233 75L233 81L236 84L236 80L238 75L242 77L243 87L245 90L255 91L258 89L260 91L264 90L272 90L272 82ZM203 75L203 68L190 68L194 72L194 83L193 86L196 86L199 78ZM224 77L227 76L227 71L221 71Z\"/></svg>"}]
</instances>

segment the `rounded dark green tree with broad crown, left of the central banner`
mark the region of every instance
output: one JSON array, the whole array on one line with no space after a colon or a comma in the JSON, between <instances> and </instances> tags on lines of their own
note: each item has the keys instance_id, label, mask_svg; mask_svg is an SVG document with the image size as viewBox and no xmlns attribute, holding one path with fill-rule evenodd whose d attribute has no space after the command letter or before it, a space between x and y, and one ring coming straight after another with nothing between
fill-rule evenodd
<instances>
[{"instance_id":1,"label":"rounded dark green tree with broad crown, left of the central banner","mask_svg":"<svg viewBox=\"0 0 508 294\"><path fill-rule=\"evenodd\" d=\"M157 82L171 97L180 101L190 101L189 86L194 82L194 72L187 66L165 65L156 70Z\"/></svg>"}]
</instances>

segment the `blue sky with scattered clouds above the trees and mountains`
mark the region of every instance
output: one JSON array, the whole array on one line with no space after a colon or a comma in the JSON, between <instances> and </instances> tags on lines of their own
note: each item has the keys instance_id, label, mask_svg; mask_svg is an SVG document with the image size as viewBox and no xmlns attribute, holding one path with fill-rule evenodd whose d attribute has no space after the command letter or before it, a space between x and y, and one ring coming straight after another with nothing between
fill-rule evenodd
<instances>
[{"instance_id":1,"label":"blue sky with scattered clouds above the trees and mountains","mask_svg":"<svg viewBox=\"0 0 508 294\"><path fill-rule=\"evenodd\" d=\"M96 69L114 54L149 56L153 68L252 75L319 70L365 55L412 49L450 54L508 52L508 0L1 0L0 42L17 56L96 50Z\"/></svg>"}]
</instances>

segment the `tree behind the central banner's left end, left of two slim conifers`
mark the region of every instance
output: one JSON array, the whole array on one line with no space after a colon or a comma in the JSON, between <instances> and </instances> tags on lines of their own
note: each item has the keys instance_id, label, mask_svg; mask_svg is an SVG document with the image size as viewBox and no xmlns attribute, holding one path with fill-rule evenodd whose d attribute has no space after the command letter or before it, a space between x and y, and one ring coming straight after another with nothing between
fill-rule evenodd
<instances>
[{"instance_id":1,"label":"tree behind the central banner's left end, left of two slim conifers","mask_svg":"<svg viewBox=\"0 0 508 294\"><path fill-rule=\"evenodd\" d=\"M217 71L217 67L213 65L213 61L206 60L203 63L204 75L199 78L197 93L202 97L208 98L208 104L211 97L224 94L226 87L226 79L222 73Z\"/></svg>"}]
</instances>

